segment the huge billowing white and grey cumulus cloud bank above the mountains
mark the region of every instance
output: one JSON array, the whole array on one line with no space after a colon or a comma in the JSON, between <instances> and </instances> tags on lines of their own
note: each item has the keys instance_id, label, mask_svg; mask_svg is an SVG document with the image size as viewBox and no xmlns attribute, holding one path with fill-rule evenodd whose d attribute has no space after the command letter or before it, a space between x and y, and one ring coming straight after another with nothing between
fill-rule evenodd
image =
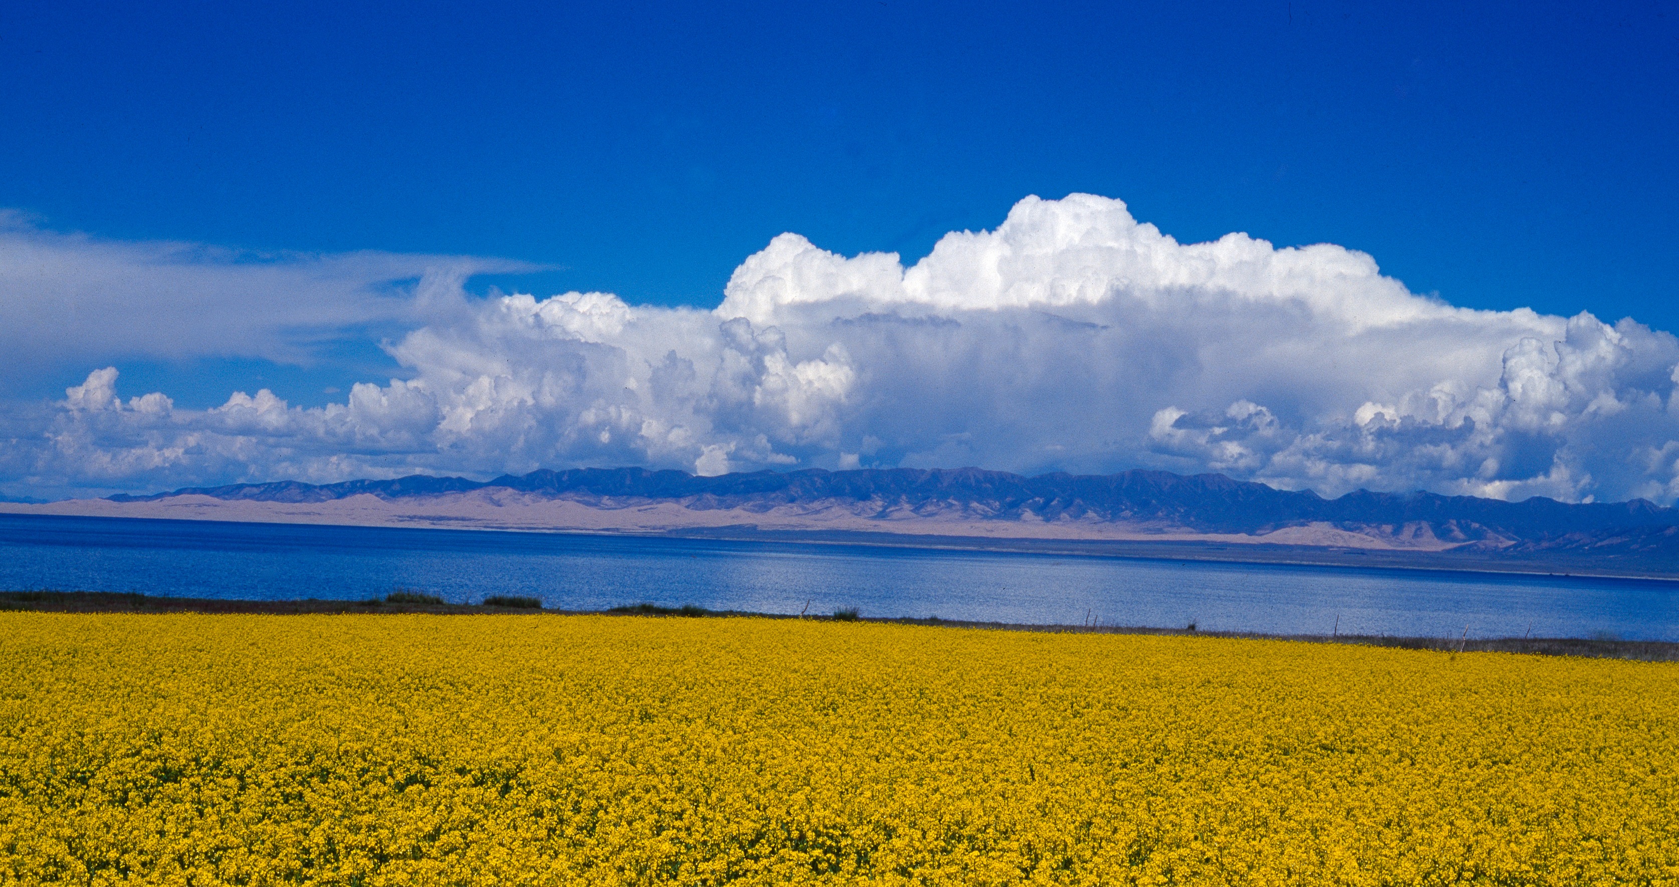
<instances>
[{"instance_id":1,"label":"huge billowing white and grey cumulus cloud bank above the mountains","mask_svg":"<svg viewBox=\"0 0 1679 887\"><path fill-rule=\"evenodd\" d=\"M1179 243L1090 195L1023 200L908 268L781 235L715 310L452 285L388 349L410 379L180 411L96 369L12 418L0 478L1153 466L1325 495L1679 496L1674 335L1459 309L1333 245Z\"/></svg>"}]
</instances>

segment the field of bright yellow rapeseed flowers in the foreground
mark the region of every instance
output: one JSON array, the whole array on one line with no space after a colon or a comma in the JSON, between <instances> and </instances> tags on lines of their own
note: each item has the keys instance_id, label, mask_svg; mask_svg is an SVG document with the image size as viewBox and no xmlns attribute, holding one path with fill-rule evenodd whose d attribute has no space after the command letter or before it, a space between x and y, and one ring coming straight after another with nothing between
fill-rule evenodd
<instances>
[{"instance_id":1,"label":"field of bright yellow rapeseed flowers in the foreground","mask_svg":"<svg viewBox=\"0 0 1679 887\"><path fill-rule=\"evenodd\" d=\"M1679 669L0 614L3 884L1679 884Z\"/></svg>"}]
</instances>

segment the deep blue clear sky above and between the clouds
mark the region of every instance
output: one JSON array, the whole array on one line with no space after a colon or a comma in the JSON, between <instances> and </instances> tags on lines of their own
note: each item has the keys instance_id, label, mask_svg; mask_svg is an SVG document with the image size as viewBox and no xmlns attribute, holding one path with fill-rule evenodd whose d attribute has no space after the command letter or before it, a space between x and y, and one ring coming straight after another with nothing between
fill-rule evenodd
<instances>
[{"instance_id":1,"label":"deep blue clear sky above and between the clouds","mask_svg":"<svg viewBox=\"0 0 1679 887\"><path fill-rule=\"evenodd\" d=\"M468 292L710 309L782 231L910 265L1095 193L1185 243L1679 329L1671 3L35 3L0 10L0 208L112 243L497 257L542 270ZM109 362L180 406L321 406L411 374L405 329ZM94 367L25 369L0 396Z\"/></svg>"}]
</instances>

